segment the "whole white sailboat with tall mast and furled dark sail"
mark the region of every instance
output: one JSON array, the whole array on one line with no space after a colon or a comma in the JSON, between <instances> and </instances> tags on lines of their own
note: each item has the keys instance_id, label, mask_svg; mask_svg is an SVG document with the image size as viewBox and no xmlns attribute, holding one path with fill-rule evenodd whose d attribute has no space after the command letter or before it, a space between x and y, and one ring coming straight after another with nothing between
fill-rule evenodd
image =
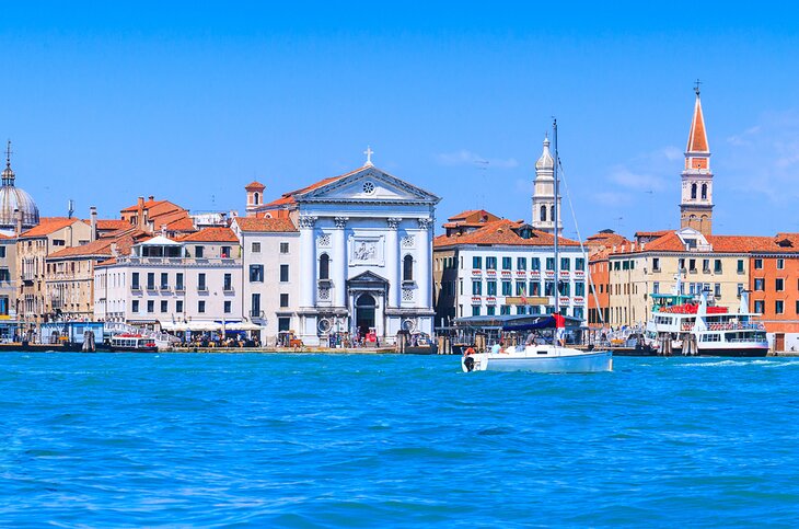
<instances>
[{"instance_id":1,"label":"whole white sailboat with tall mast and furled dark sail","mask_svg":"<svg viewBox=\"0 0 799 529\"><path fill-rule=\"evenodd\" d=\"M558 219L558 150L557 122L553 124L553 139L555 146L555 211L553 218ZM558 274L558 228L555 221L555 277ZM499 348L498 352L464 354L461 358L461 368L470 371L531 371L531 372L602 372L613 370L613 353L610 350L579 350L565 346L565 320L559 314L558 296L555 298L555 313L542 321L530 325L503 326L503 331L532 331L535 329L555 329L556 336L553 344L525 344ZM467 349L468 350L468 349Z\"/></svg>"}]
</instances>

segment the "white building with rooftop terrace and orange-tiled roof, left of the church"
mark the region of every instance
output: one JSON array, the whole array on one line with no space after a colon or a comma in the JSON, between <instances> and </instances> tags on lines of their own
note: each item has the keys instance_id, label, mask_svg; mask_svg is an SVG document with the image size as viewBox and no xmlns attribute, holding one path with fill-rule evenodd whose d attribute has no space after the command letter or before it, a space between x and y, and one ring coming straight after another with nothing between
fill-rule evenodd
<instances>
[{"instance_id":1,"label":"white building with rooftop terrace and orange-tiled roof, left of the church","mask_svg":"<svg viewBox=\"0 0 799 529\"><path fill-rule=\"evenodd\" d=\"M94 318L131 324L242 321L242 263L230 228L135 244L94 269Z\"/></svg>"}]
</instances>

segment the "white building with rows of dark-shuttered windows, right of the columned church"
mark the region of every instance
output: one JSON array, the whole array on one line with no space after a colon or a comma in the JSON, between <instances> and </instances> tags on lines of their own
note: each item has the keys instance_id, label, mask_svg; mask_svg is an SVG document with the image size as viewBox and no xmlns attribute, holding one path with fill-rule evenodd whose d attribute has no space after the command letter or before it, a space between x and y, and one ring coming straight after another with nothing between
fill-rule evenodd
<instances>
[{"instance_id":1,"label":"white building with rows of dark-shuttered windows, right of the columned church","mask_svg":"<svg viewBox=\"0 0 799 529\"><path fill-rule=\"evenodd\" d=\"M558 243L560 313L584 319L588 260L579 242ZM471 315L555 311L554 237L528 223L498 219L448 229L436 238L433 266L437 325Z\"/></svg>"}]
</instances>

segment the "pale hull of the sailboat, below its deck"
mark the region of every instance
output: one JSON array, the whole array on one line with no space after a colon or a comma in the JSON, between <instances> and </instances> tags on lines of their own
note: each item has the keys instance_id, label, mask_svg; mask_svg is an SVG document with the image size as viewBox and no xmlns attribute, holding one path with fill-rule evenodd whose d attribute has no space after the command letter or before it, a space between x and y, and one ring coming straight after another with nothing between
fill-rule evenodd
<instances>
[{"instance_id":1,"label":"pale hull of the sailboat, below its deck","mask_svg":"<svg viewBox=\"0 0 799 529\"><path fill-rule=\"evenodd\" d=\"M473 355L473 368L467 358L461 360L465 372L476 371L530 371L530 372L604 372L613 370L613 354L610 350L567 356L528 356L480 354Z\"/></svg>"}]
</instances>

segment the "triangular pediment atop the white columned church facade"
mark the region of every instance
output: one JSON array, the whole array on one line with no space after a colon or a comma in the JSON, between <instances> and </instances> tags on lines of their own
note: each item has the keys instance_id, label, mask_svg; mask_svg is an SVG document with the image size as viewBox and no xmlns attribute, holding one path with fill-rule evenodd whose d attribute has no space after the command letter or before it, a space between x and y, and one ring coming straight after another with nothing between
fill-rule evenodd
<instances>
[{"instance_id":1,"label":"triangular pediment atop the white columned church facade","mask_svg":"<svg viewBox=\"0 0 799 529\"><path fill-rule=\"evenodd\" d=\"M440 198L378 168L363 168L329 184L296 196L298 202L428 203Z\"/></svg>"}]
</instances>

